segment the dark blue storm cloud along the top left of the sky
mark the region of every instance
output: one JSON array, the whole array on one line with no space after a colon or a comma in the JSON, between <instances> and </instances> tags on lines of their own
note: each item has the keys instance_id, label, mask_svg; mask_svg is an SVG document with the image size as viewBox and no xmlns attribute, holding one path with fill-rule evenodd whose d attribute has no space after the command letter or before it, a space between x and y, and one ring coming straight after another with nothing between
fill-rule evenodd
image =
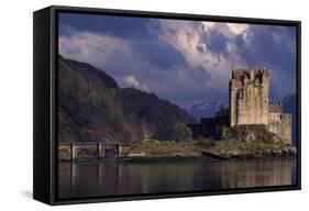
<instances>
[{"instance_id":1,"label":"dark blue storm cloud along the top left of the sky","mask_svg":"<svg viewBox=\"0 0 309 211\"><path fill-rule=\"evenodd\" d=\"M75 30L129 40L134 53L158 70L173 70L179 66L186 66L184 55L169 43L158 38L161 29L157 20L60 13L59 23L59 34L65 36L69 36L71 34L70 30ZM128 56L125 55L125 57ZM120 60L123 60L123 58ZM114 73L121 75L121 64L113 66L115 66L112 68ZM124 70L124 73L126 74L128 70Z\"/></svg>"}]
</instances>

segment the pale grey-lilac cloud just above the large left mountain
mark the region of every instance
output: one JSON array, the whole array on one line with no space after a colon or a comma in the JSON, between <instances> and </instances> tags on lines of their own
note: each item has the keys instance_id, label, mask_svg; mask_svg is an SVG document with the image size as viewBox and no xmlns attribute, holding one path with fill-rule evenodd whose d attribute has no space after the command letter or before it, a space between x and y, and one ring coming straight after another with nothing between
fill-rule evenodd
<instances>
[{"instance_id":1,"label":"pale grey-lilac cloud just above the large left mountain","mask_svg":"<svg viewBox=\"0 0 309 211\"><path fill-rule=\"evenodd\" d=\"M130 42L92 32L75 31L70 36L60 36L59 53L90 63L114 77L134 74L140 66Z\"/></svg>"}]
</instances>

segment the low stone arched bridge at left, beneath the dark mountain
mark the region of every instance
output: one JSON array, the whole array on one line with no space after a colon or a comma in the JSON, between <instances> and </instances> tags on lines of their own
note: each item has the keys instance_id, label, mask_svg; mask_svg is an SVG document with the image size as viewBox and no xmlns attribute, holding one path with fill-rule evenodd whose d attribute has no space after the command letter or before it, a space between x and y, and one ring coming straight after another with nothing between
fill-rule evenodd
<instances>
[{"instance_id":1,"label":"low stone arched bridge at left, beneath the dark mountain","mask_svg":"<svg viewBox=\"0 0 309 211\"><path fill-rule=\"evenodd\" d=\"M126 156L131 145L101 142L60 143L59 160L118 158Z\"/></svg>"}]
</instances>

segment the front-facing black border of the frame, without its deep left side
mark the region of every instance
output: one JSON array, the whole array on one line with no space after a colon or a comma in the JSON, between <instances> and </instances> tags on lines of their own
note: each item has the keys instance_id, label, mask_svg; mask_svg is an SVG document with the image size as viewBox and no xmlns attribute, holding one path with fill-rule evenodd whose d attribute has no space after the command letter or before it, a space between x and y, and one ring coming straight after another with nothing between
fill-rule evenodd
<instances>
[{"instance_id":1,"label":"front-facing black border of the frame, without its deep left side","mask_svg":"<svg viewBox=\"0 0 309 211\"><path fill-rule=\"evenodd\" d=\"M112 201L131 201L145 199L166 199L179 197L197 197L197 196L218 196L231 193L253 193L253 192L273 192L283 190L300 190L301 189L301 22L275 19L255 19L255 18L236 18L221 15L203 15L187 13L169 13L153 11L134 11L134 10L115 10L115 9L98 9L98 8L80 8L80 7L63 7L52 5L51 9L51 142L49 142L49 164L51 164L51 203L49 204L75 204L89 202L112 202ZM173 19L173 20L190 20L190 21L212 21L212 22L233 22L263 25L284 25L296 26L296 69L297 69L297 184L288 186L268 186L254 188L235 188L223 190L203 190L203 191L184 191L184 192L165 192L165 193L141 193L111 197L89 197L89 198L70 198L59 199L57 196L57 67L58 67L58 13L80 13L80 14L106 14L121 16L154 18L154 19Z\"/></svg>"}]
</instances>

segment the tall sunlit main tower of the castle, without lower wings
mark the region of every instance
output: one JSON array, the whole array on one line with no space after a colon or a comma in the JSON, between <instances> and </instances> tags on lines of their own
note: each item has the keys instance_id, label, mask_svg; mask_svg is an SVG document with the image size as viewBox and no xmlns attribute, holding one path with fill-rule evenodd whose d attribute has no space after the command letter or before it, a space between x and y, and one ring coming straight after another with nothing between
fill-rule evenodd
<instances>
[{"instance_id":1,"label":"tall sunlit main tower of the castle, without lower wings","mask_svg":"<svg viewBox=\"0 0 309 211\"><path fill-rule=\"evenodd\" d=\"M230 124L268 124L269 74L265 67L232 69Z\"/></svg>"}]
</instances>

